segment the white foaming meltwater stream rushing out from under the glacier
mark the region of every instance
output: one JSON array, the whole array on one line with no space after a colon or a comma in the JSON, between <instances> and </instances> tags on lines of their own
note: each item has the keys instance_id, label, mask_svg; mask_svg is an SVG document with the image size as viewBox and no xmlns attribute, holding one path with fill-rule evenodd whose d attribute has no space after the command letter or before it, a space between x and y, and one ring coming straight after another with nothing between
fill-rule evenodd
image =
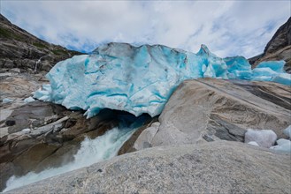
<instances>
[{"instance_id":1,"label":"white foaming meltwater stream rushing out from under the glacier","mask_svg":"<svg viewBox=\"0 0 291 194\"><path fill-rule=\"evenodd\" d=\"M132 128L113 128L103 136L95 139L85 138L81 142L80 150L74 155L74 160L60 168L49 168L40 173L30 172L27 175L11 178L6 183L3 191L12 190L30 183L41 181L54 175L60 175L74 169L88 167L98 161L110 159L119 152L119 148L134 133Z\"/></svg>"}]
</instances>

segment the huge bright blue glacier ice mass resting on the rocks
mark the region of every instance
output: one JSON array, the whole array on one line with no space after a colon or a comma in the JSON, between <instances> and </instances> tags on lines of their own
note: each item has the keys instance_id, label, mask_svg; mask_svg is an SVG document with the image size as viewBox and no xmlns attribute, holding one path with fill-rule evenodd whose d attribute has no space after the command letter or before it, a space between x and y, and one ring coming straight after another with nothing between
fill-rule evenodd
<instances>
[{"instance_id":1,"label":"huge bright blue glacier ice mass resting on the rocks","mask_svg":"<svg viewBox=\"0 0 291 194\"><path fill-rule=\"evenodd\" d=\"M252 70L243 56L221 58L205 45L195 54L162 45L109 43L57 63L46 75L50 85L35 91L34 98L86 110L87 117L103 108L157 116L185 79L247 79L290 86L284 64L263 62Z\"/></svg>"}]
</instances>

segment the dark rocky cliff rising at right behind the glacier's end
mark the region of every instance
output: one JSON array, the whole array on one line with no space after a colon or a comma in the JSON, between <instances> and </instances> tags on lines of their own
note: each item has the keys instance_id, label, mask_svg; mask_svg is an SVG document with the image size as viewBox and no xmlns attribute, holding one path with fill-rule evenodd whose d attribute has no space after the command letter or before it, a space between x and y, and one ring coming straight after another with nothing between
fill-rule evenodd
<instances>
[{"instance_id":1,"label":"dark rocky cliff rising at right behind the glacier's end","mask_svg":"<svg viewBox=\"0 0 291 194\"><path fill-rule=\"evenodd\" d=\"M291 18L280 26L271 41L264 48L264 53L249 58L252 68L263 61L285 60L285 70L291 73Z\"/></svg>"}]
</instances>

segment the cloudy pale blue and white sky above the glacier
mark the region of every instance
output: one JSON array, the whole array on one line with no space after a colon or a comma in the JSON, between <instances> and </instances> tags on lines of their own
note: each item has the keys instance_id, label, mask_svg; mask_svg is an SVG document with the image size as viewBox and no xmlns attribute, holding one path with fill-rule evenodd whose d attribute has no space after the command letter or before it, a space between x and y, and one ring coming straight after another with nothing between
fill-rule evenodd
<instances>
[{"instance_id":1,"label":"cloudy pale blue and white sky above the glacier","mask_svg":"<svg viewBox=\"0 0 291 194\"><path fill-rule=\"evenodd\" d=\"M291 1L0 0L13 24L44 41L91 52L99 45L162 44L217 56L257 56L291 15Z\"/></svg>"}]
</instances>

